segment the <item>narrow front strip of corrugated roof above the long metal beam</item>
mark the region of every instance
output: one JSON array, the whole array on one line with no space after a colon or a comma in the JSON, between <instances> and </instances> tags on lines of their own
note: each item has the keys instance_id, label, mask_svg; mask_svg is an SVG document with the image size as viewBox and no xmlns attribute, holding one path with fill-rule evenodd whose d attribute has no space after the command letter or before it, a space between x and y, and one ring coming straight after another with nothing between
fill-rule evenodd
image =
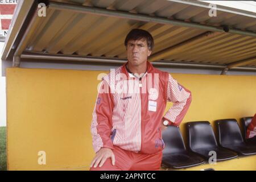
<instances>
[{"instance_id":1,"label":"narrow front strip of corrugated roof above the long metal beam","mask_svg":"<svg viewBox=\"0 0 256 182\"><path fill-rule=\"evenodd\" d=\"M224 10L217 10L217 16L210 17L208 8L163 0L56 0L56 2L77 2L75 4L82 6L102 7L105 9L129 11L164 18L188 20L214 26L227 25L242 30L256 31L256 12L254 14L250 13L250 16L241 16L239 14L225 12Z\"/></svg>"}]
</instances>

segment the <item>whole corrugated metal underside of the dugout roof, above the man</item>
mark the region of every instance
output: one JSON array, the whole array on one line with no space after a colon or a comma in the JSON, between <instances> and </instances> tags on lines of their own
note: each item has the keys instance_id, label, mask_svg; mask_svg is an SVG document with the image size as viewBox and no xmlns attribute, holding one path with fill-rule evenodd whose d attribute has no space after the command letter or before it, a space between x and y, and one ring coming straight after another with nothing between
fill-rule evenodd
<instances>
[{"instance_id":1,"label":"whole corrugated metal underside of the dugout roof, above the man","mask_svg":"<svg viewBox=\"0 0 256 182\"><path fill-rule=\"evenodd\" d=\"M256 13L245 16L218 10L216 17L210 17L209 9L205 7L163 0L59 0L56 2L256 32ZM170 49L159 61L226 65L256 56L256 38L253 36L220 32L215 36L184 44L178 51L172 51L172 47L189 42L189 39L204 35L208 31L51 8L47 9L45 18L36 19L39 21L38 26L24 50L32 53L125 59L126 50L123 45L125 36L132 28L142 28L151 32L154 37L155 48L152 55ZM253 63L244 66L256 67L256 59Z\"/></svg>"}]
</instances>

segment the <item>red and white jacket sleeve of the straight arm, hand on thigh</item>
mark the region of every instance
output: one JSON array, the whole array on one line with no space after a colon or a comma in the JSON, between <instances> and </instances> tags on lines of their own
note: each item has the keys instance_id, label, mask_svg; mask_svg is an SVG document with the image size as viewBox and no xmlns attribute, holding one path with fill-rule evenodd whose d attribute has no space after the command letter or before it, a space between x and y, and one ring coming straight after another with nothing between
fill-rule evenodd
<instances>
[{"instance_id":1,"label":"red and white jacket sleeve of the straight arm, hand on thigh","mask_svg":"<svg viewBox=\"0 0 256 182\"><path fill-rule=\"evenodd\" d=\"M98 89L91 125L93 148L95 152L99 151L102 147L113 149L113 142L110 139L113 105L113 96L112 93L110 93L109 85L103 80Z\"/></svg>"}]
</instances>

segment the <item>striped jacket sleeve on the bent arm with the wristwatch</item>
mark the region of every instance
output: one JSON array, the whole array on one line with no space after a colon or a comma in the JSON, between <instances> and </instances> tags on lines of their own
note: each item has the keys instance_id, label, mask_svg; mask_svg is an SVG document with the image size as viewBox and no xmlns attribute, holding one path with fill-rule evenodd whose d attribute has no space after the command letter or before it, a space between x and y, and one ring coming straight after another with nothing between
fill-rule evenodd
<instances>
[{"instance_id":1,"label":"striped jacket sleeve on the bent arm with the wristwatch","mask_svg":"<svg viewBox=\"0 0 256 182\"><path fill-rule=\"evenodd\" d=\"M164 115L170 125L179 126L191 104L191 92L180 85L177 80L169 74L167 86L167 101L174 102L174 105Z\"/></svg>"}]
</instances>

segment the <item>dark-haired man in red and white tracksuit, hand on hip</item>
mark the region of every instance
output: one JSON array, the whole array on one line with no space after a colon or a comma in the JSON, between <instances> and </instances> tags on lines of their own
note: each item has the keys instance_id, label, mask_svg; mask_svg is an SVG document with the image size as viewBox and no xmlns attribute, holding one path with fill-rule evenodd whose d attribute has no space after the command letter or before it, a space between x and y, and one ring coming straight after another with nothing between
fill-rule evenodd
<instances>
[{"instance_id":1,"label":"dark-haired man in red and white tracksuit, hand on hip","mask_svg":"<svg viewBox=\"0 0 256 182\"><path fill-rule=\"evenodd\" d=\"M147 61L154 47L149 32L133 29L125 39L127 63L102 78L93 111L96 151L90 170L159 170L162 129L179 126L191 92ZM164 115L167 101L174 105Z\"/></svg>"}]
</instances>

